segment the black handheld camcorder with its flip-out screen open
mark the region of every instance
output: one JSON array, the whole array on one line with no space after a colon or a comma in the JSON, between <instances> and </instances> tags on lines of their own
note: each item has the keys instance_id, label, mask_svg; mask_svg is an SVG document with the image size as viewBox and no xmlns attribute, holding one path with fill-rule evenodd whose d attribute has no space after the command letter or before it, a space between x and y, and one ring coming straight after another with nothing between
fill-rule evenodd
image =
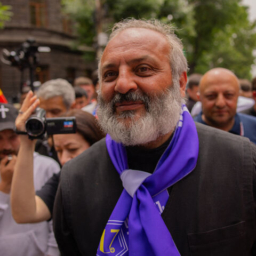
<instances>
[{"instance_id":1,"label":"black handheld camcorder with its flip-out screen open","mask_svg":"<svg viewBox=\"0 0 256 256\"><path fill-rule=\"evenodd\" d=\"M76 118L74 116L46 118L45 110L37 108L27 119L25 127L29 139L44 139L46 135L51 134L75 133Z\"/></svg>"}]
</instances>

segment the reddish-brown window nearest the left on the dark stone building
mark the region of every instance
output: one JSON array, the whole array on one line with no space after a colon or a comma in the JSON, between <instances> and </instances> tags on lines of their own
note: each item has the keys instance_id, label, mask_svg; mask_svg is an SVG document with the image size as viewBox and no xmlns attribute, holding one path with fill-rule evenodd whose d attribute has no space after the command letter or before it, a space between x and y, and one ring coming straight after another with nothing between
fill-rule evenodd
<instances>
[{"instance_id":1,"label":"reddish-brown window nearest the left on the dark stone building","mask_svg":"<svg viewBox=\"0 0 256 256\"><path fill-rule=\"evenodd\" d=\"M46 4L43 0L33 0L29 3L30 6L30 22L36 27L46 27Z\"/></svg>"}]
</instances>

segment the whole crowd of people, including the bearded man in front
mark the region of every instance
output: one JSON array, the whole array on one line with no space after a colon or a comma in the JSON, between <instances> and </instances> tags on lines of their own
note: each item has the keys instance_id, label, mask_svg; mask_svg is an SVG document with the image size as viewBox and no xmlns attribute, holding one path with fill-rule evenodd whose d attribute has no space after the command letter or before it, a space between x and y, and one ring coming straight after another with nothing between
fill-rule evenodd
<instances>
[{"instance_id":1,"label":"whole crowd of people, including the bearded man in front","mask_svg":"<svg viewBox=\"0 0 256 256\"><path fill-rule=\"evenodd\" d=\"M187 72L173 28L126 19L91 78L0 103L0 254L256 256L256 78ZM29 136L38 108L75 132Z\"/></svg>"}]
</instances>

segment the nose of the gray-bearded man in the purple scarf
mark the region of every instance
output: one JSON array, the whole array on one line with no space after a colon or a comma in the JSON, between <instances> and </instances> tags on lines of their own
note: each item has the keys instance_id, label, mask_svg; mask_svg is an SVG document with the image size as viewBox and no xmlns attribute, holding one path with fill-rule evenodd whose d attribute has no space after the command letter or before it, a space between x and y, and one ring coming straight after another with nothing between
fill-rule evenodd
<instances>
[{"instance_id":1,"label":"nose of the gray-bearded man in the purple scarf","mask_svg":"<svg viewBox=\"0 0 256 256\"><path fill-rule=\"evenodd\" d=\"M138 86L134 81L132 71L127 68L119 70L119 74L116 79L115 92L125 94L129 91L136 91L137 89Z\"/></svg>"}]
</instances>

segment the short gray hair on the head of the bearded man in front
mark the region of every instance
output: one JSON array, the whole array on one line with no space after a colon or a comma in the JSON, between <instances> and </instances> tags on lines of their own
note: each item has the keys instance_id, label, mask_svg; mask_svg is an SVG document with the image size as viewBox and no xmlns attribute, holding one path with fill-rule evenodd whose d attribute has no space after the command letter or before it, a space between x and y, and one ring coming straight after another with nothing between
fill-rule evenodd
<instances>
[{"instance_id":1,"label":"short gray hair on the head of the bearded man in front","mask_svg":"<svg viewBox=\"0 0 256 256\"><path fill-rule=\"evenodd\" d=\"M109 41L118 35L121 31L128 28L146 28L161 33L167 39L169 43L169 59L172 70L172 77L175 81L179 81L181 74L188 70L188 63L183 54L183 45L177 35L174 34L174 27L162 23L156 19L139 19L134 18L124 19L118 23L115 23L112 28L112 33L109 36ZM99 77L101 77L101 59L99 61Z\"/></svg>"}]
</instances>

